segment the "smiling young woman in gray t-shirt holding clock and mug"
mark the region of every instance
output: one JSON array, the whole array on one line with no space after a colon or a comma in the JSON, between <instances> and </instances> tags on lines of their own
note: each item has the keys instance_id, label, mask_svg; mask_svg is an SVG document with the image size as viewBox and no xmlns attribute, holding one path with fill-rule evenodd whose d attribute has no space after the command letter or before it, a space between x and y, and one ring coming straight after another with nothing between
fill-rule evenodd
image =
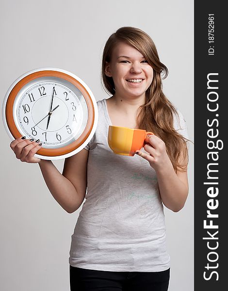
<instances>
[{"instance_id":1,"label":"smiling young woman in gray t-shirt holding clock and mug","mask_svg":"<svg viewBox=\"0 0 228 291\"><path fill-rule=\"evenodd\" d=\"M65 159L63 173L34 157L35 141L11 143L22 162L39 163L67 212L86 198L72 235L71 291L168 289L163 204L175 212L185 204L188 136L183 116L163 94L162 74L168 70L147 33L122 27L103 52L102 81L112 96L97 102L97 130L81 152ZM108 146L109 125L154 135L134 157L116 155Z\"/></svg>"}]
</instances>

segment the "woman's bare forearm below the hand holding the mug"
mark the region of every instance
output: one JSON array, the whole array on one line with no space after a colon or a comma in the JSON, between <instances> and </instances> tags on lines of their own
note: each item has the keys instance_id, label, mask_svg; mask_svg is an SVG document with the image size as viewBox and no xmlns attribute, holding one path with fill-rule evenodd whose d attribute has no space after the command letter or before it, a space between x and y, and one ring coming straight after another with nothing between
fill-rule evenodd
<instances>
[{"instance_id":1,"label":"woman's bare forearm below the hand holding the mug","mask_svg":"<svg viewBox=\"0 0 228 291\"><path fill-rule=\"evenodd\" d=\"M187 199L187 186L178 178L171 162L156 173L163 204L168 209L178 212L184 207Z\"/></svg>"}]
</instances>

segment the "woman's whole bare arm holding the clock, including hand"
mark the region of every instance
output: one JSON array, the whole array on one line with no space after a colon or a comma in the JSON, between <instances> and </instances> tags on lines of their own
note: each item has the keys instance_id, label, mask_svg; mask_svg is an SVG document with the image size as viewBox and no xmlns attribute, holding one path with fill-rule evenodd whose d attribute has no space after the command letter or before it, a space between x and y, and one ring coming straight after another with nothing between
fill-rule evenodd
<instances>
[{"instance_id":1,"label":"woman's whole bare arm holding the clock, including hand","mask_svg":"<svg viewBox=\"0 0 228 291\"><path fill-rule=\"evenodd\" d=\"M72 213L84 200L87 188L87 161L89 152L82 149L76 155L65 159L63 174L51 161L34 157L40 149L35 141L18 138L10 147L21 162L39 163L42 175L54 199L66 210Z\"/></svg>"}]
</instances>

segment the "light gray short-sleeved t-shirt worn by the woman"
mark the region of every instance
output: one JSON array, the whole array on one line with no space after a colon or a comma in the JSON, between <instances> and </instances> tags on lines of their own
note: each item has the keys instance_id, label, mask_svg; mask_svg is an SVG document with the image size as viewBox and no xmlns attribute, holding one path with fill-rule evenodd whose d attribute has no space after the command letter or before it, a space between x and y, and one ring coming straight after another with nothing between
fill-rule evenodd
<instances>
[{"instance_id":1,"label":"light gray short-sleeved t-shirt worn by the woman","mask_svg":"<svg viewBox=\"0 0 228 291\"><path fill-rule=\"evenodd\" d=\"M69 263L101 271L167 270L170 257L156 172L140 156L113 153L107 140L112 124L106 99L97 104L98 127L85 147L86 200L71 236ZM179 117L174 117L175 129L188 138L180 112Z\"/></svg>"}]
</instances>

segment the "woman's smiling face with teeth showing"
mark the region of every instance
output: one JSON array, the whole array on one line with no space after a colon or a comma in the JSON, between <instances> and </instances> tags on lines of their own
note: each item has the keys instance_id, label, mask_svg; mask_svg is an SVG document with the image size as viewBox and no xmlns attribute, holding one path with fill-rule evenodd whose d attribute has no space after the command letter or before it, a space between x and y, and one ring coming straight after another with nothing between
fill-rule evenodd
<instances>
[{"instance_id":1,"label":"woman's smiling face with teeth showing","mask_svg":"<svg viewBox=\"0 0 228 291\"><path fill-rule=\"evenodd\" d=\"M153 68L144 55L124 42L114 47L105 74L113 77L115 95L118 96L145 97L145 92L153 80Z\"/></svg>"}]
</instances>

